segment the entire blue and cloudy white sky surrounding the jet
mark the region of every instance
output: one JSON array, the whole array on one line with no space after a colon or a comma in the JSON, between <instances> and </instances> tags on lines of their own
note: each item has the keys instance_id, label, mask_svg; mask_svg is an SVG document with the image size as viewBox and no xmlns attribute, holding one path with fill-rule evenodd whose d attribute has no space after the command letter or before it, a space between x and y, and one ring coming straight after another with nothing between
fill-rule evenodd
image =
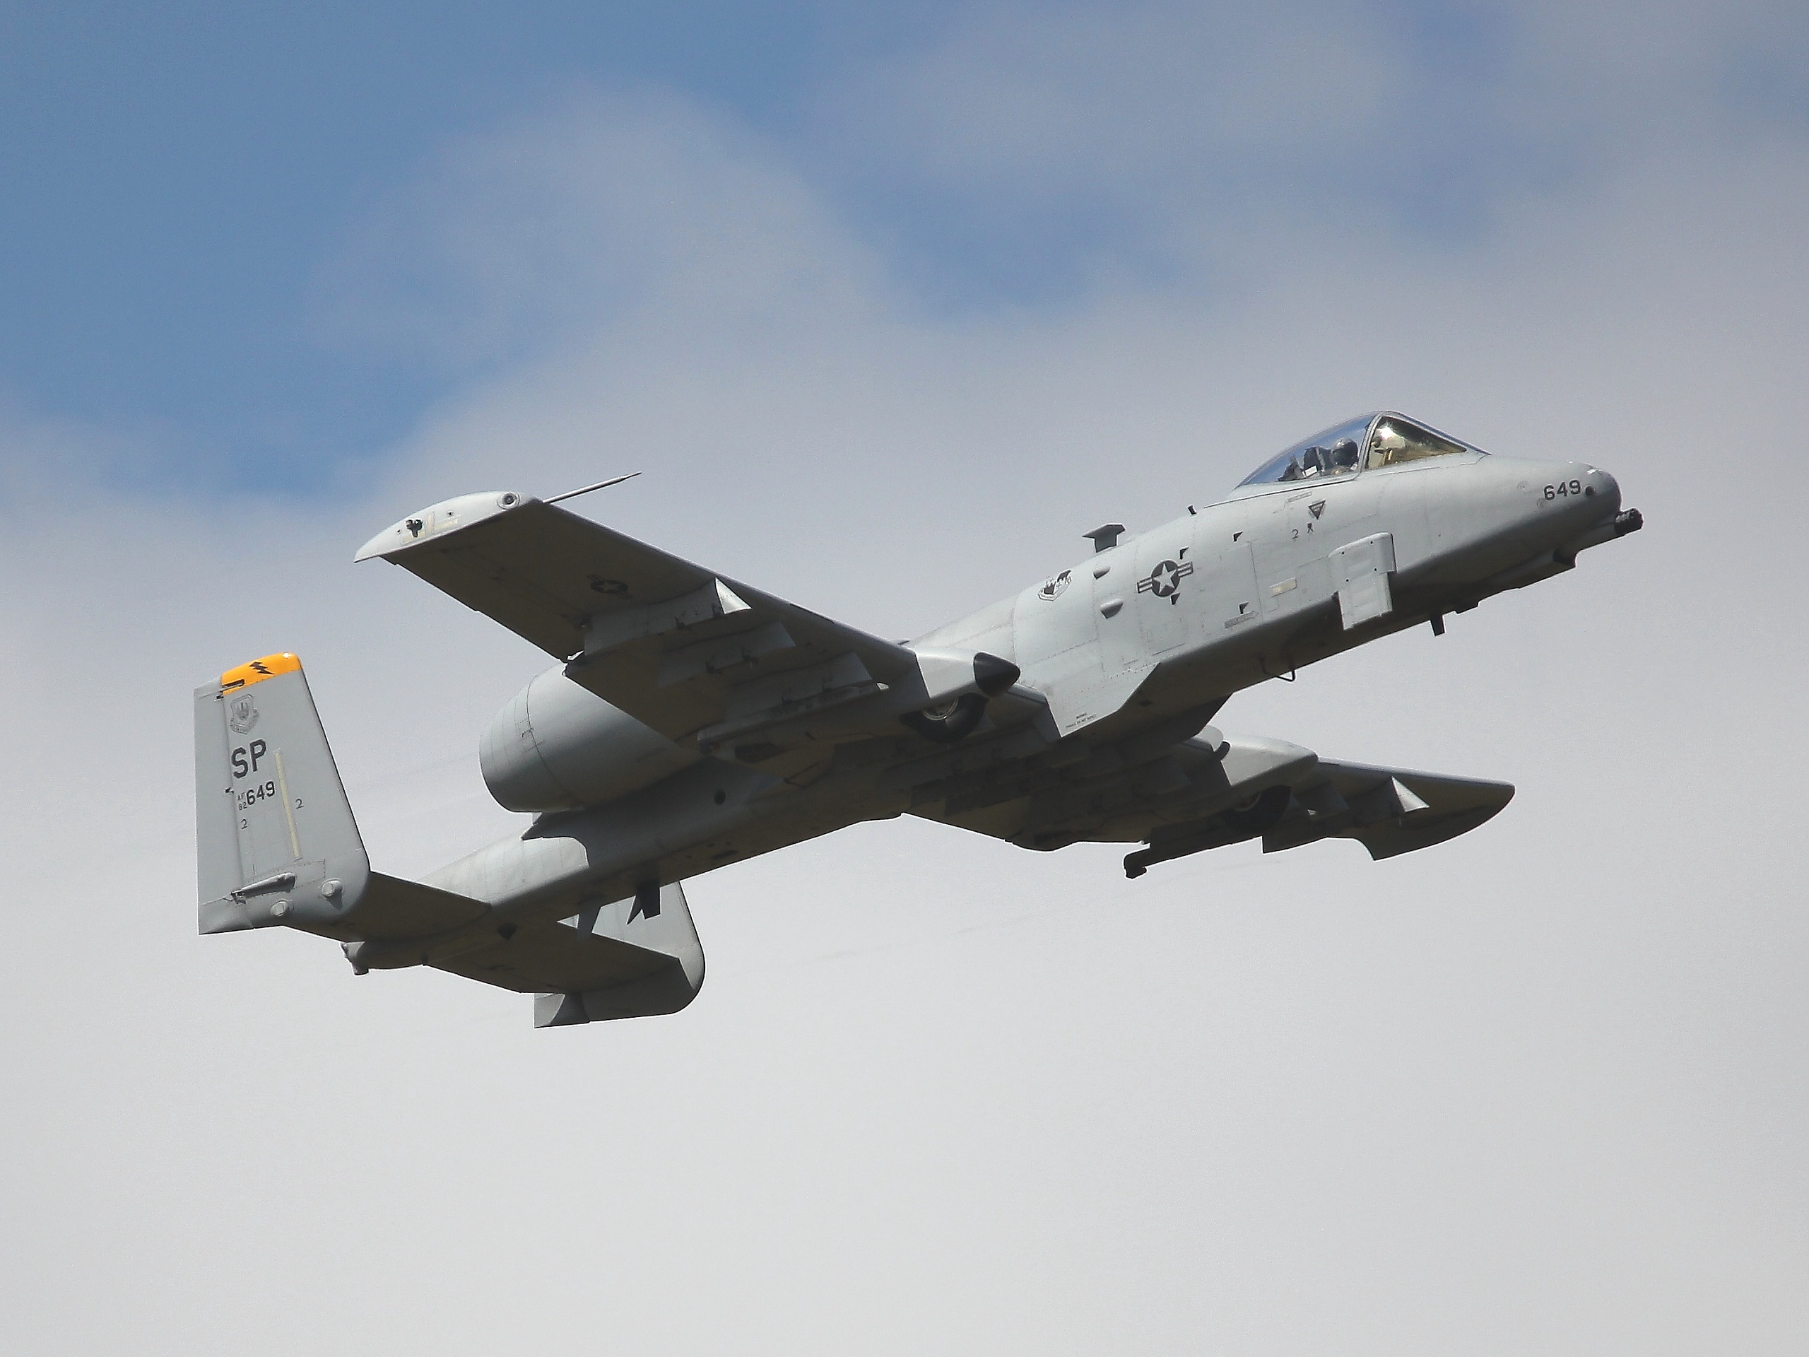
<instances>
[{"instance_id":1,"label":"entire blue and cloudy white sky surrounding the jet","mask_svg":"<svg viewBox=\"0 0 1809 1357\"><path fill-rule=\"evenodd\" d=\"M34 1352L1798 1353L1809 20L1785 4L0 0L0 1162ZM883 635L1364 409L1644 532L1217 724L1503 778L1125 881L861 825L680 1015L197 937L295 650L380 870L517 832L481 489Z\"/></svg>"}]
</instances>

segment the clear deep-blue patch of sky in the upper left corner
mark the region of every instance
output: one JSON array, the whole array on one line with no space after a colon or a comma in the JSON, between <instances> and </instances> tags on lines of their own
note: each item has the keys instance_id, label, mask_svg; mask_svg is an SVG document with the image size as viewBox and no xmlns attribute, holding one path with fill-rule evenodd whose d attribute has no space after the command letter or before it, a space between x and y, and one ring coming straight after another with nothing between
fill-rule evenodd
<instances>
[{"instance_id":1,"label":"clear deep-blue patch of sky in the upper left corner","mask_svg":"<svg viewBox=\"0 0 1809 1357\"><path fill-rule=\"evenodd\" d=\"M816 27L734 4L7 4L0 387L192 443L208 476L308 485L438 389L309 329L313 270L373 195L577 81L781 121Z\"/></svg>"}]
</instances>

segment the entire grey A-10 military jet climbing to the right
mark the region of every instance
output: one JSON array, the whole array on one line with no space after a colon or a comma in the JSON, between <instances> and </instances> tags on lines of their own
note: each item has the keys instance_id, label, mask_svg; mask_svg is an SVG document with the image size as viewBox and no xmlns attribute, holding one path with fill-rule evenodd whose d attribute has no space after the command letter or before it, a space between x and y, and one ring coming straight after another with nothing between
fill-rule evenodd
<instances>
[{"instance_id":1,"label":"entire grey A-10 military jet climbing to the right","mask_svg":"<svg viewBox=\"0 0 1809 1357\"><path fill-rule=\"evenodd\" d=\"M568 496L555 496L564 499ZM535 993L535 1024L671 1013L704 981L680 883L901 812L1154 863L1326 836L1388 858L1514 789L1319 758L1208 722L1241 688L1568 570L1641 527L1597 467L1489 456L1382 413L1232 494L910 642L883 641L519 492L358 552L559 662L479 744L519 838L425 883L373 872L300 660L195 691L201 932L333 937L353 970Z\"/></svg>"}]
</instances>

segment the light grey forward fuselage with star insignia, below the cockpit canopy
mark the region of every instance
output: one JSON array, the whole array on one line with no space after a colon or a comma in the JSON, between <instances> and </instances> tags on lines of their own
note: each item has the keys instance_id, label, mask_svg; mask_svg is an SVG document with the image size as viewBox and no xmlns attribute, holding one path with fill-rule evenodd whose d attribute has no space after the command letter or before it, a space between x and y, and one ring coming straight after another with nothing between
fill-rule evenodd
<instances>
[{"instance_id":1,"label":"light grey forward fuselage with star insignia, below the cockpit canopy","mask_svg":"<svg viewBox=\"0 0 1809 1357\"><path fill-rule=\"evenodd\" d=\"M1046 691L1154 662L1140 697L1198 706L1558 574L1567 546L1619 510L1621 487L1597 467L1474 451L1239 487L914 644L1006 655ZM1333 557L1380 534L1393 548L1393 608L1346 630Z\"/></svg>"}]
</instances>

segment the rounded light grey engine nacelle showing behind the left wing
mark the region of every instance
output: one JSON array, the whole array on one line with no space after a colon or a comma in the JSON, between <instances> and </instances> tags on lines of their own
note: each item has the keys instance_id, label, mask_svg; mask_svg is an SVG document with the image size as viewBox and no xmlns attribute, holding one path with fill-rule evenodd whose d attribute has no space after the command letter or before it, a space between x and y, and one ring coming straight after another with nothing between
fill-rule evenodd
<instances>
[{"instance_id":1,"label":"rounded light grey engine nacelle showing behind the left wing","mask_svg":"<svg viewBox=\"0 0 1809 1357\"><path fill-rule=\"evenodd\" d=\"M613 802L700 758L579 688L563 669L548 669L516 693L478 745L490 796L505 811L535 812Z\"/></svg>"}]
</instances>

